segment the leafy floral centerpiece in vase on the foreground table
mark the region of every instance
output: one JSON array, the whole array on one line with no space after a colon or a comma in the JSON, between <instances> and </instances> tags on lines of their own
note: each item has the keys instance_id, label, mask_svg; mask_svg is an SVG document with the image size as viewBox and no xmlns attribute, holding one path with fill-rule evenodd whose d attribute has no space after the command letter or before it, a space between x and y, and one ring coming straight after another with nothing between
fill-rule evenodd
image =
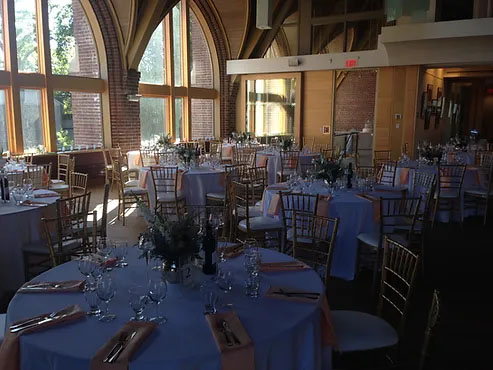
<instances>
[{"instance_id":1,"label":"leafy floral centerpiece in vase on the foreground table","mask_svg":"<svg viewBox=\"0 0 493 370\"><path fill-rule=\"evenodd\" d=\"M148 225L145 236L152 240L153 248L147 252L150 258L163 262L163 278L170 283L183 282L183 271L198 254L199 228L192 216L182 216L170 221L137 201L139 209Z\"/></svg>"}]
</instances>

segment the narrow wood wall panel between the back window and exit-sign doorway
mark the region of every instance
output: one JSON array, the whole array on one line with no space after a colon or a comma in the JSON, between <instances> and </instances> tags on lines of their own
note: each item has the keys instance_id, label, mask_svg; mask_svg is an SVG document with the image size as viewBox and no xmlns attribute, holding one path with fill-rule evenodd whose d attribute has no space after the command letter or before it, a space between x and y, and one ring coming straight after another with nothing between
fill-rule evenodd
<instances>
[{"instance_id":1,"label":"narrow wood wall panel between the back window and exit-sign doorway","mask_svg":"<svg viewBox=\"0 0 493 370\"><path fill-rule=\"evenodd\" d=\"M334 122L335 71L303 73L302 136L315 137L315 143L332 144ZM330 126L330 134L322 133L322 126Z\"/></svg>"}]
</instances>

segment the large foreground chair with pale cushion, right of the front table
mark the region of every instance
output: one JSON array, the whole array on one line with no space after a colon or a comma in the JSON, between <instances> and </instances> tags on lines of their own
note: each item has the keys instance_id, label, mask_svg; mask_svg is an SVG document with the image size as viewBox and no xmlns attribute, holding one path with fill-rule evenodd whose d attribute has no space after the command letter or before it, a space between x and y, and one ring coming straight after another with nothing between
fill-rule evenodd
<instances>
[{"instance_id":1,"label":"large foreground chair with pale cushion, right of the front table","mask_svg":"<svg viewBox=\"0 0 493 370\"><path fill-rule=\"evenodd\" d=\"M335 367L344 368L344 362L350 361L353 354L375 351L375 361L382 354L397 368L418 261L419 257L402 244L385 239L378 316L358 311L331 312L337 333Z\"/></svg>"}]
</instances>

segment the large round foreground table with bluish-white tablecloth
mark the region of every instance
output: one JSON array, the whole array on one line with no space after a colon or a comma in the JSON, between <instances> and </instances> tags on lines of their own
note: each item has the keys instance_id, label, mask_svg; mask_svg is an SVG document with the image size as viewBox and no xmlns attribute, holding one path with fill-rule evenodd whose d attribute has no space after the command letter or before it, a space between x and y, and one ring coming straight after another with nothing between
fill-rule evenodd
<instances>
[{"instance_id":1,"label":"large round foreground table with bluish-white tablecloth","mask_svg":"<svg viewBox=\"0 0 493 370\"><path fill-rule=\"evenodd\" d=\"M133 315L128 304L128 289L145 285L145 261L137 259L140 251L131 248L129 266L113 269L117 293L110 303L115 320L99 322L86 317L67 325L23 335L20 338L22 370L87 370L92 356ZM286 255L261 250L265 262L291 260ZM234 272L233 290L222 297L232 303L243 326L253 340L256 370L330 369L330 347L322 347L320 309L313 303L265 298L268 287L281 285L322 292L324 286L313 270L261 273L262 295L246 297L243 257L226 262ZM38 276L37 281L80 279L77 262L72 261ZM17 294L7 312L7 324L23 318L52 312L71 304L87 307L82 293ZM135 353L129 369L200 369L221 368L221 357L203 315L197 288L168 285L168 295L161 304L168 321ZM154 311L154 307L150 312Z\"/></svg>"}]
</instances>

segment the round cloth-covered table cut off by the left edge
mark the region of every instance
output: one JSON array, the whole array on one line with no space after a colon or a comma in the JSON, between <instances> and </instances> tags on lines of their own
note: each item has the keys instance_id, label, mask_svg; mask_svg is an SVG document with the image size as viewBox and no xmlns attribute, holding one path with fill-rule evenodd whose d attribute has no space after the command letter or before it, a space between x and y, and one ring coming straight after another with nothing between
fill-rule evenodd
<instances>
[{"instance_id":1,"label":"round cloth-covered table cut off by the left edge","mask_svg":"<svg viewBox=\"0 0 493 370\"><path fill-rule=\"evenodd\" d=\"M35 190L35 196L53 193L48 190ZM3 203L0 200L0 293L17 290L24 283L24 246L44 243L41 239L42 217L54 217L56 209L54 197L35 198L36 202L48 206L16 206L14 201Z\"/></svg>"}]
</instances>

